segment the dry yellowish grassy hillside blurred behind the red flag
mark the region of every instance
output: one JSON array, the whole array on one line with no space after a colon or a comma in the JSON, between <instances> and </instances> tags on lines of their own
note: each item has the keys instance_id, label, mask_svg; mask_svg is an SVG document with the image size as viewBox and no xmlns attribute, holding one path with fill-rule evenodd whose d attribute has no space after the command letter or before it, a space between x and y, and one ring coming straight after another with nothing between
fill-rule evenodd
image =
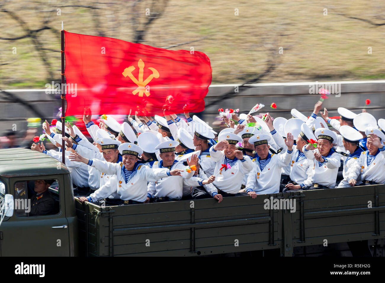
<instances>
[{"instance_id":1,"label":"dry yellowish grassy hillside blurred behind the red flag","mask_svg":"<svg viewBox=\"0 0 385 283\"><path fill-rule=\"evenodd\" d=\"M148 19L146 8L162 15L145 28L142 43L166 47L198 40L171 49L205 52L213 83L252 79L266 69L267 60L275 69L261 82L385 78L385 2L171 0L165 8L162 1L156 7L152 1L136 2L5 2L0 37L36 37L0 39L0 88L44 88L50 79L60 80L55 50L60 50L62 21L70 32L133 41L134 30ZM64 7L70 5L85 7ZM28 33L42 27L47 29Z\"/></svg>"}]
</instances>

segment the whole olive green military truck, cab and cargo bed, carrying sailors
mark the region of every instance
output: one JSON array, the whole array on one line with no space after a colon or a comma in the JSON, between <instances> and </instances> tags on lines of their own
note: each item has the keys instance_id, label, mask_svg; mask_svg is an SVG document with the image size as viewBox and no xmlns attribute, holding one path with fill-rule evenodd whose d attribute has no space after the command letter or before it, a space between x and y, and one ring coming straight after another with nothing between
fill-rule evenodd
<instances>
[{"instance_id":1,"label":"whole olive green military truck, cab and cargo bed, carrying sailors","mask_svg":"<svg viewBox=\"0 0 385 283\"><path fill-rule=\"evenodd\" d=\"M55 180L49 189L55 211L30 216L28 198L39 179ZM385 185L238 196L221 203L102 207L81 204L69 168L29 149L0 150L0 201L7 204L1 256L198 256L271 249L293 256L298 247L377 243L385 235Z\"/></svg>"}]
</instances>

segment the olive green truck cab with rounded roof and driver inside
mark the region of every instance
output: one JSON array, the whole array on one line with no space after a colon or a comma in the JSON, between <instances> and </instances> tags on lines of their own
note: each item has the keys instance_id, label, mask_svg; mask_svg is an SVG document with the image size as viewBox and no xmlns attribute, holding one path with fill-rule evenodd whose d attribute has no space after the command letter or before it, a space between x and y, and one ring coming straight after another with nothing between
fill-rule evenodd
<instances>
[{"instance_id":1,"label":"olive green truck cab with rounded roof and driver inside","mask_svg":"<svg viewBox=\"0 0 385 283\"><path fill-rule=\"evenodd\" d=\"M39 194L41 185L49 188ZM1 149L0 206L5 199L13 209L3 211L1 256L77 256L72 181L62 162L30 149Z\"/></svg>"}]
</instances>

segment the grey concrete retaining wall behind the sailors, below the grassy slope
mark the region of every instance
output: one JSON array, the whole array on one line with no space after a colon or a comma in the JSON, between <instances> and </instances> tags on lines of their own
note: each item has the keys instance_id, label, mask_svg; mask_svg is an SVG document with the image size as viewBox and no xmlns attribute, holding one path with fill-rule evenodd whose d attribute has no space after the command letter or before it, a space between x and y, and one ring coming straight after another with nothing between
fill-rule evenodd
<instances>
[{"instance_id":1,"label":"grey concrete retaining wall behind the sailors, below the grassy slope","mask_svg":"<svg viewBox=\"0 0 385 283\"><path fill-rule=\"evenodd\" d=\"M202 113L204 121L214 121L218 115L218 108L239 108L239 113L248 113L256 103L262 103L265 107L260 112L270 112L273 117L291 118L290 110L296 108L305 116L313 111L314 104L320 95L309 94L309 85L314 82L301 83L273 83L249 85L244 91L234 95L215 105L206 107ZM319 82L318 84L321 84ZM370 99L367 111L377 119L385 118L385 80L363 82L323 82L323 84L341 84L341 96L330 95L323 105L328 109L329 116L337 116L337 108L345 107L353 112L360 113L365 105L365 100ZM236 85L211 85L205 98L206 105L214 99L223 96L228 91L234 91ZM61 105L60 95L45 94L42 90L6 90L20 99L35 105L46 114L47 120L57 118L56 114ZM0 136L5 131L12 129L12 124L17 124L17 129L27 129L25 119L36 117L27 107L11 103L4 92L0 92ZM269 105L275 102L277 109L271 109ZM50 121L49 121L50 122ZM41 129L38 129L39 133Z\"/></svg>"}]
</instances>

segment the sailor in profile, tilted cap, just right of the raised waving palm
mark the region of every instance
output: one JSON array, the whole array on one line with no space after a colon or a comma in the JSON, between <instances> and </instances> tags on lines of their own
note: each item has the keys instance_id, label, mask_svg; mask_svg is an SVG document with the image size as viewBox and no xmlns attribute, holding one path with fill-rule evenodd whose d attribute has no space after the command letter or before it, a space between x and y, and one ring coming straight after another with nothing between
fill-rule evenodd
<instances>
[{"instance_id":1,"label":"sailor in profile, tilted cap, just right of the raised waving palm","mask_svg":"<svg viewBox=\"0 0 385 283\"><path fill-rule=\"evenodd\" d=\"M296 145L293 146L293 155L290 161L290 182L285 186L287 190L303 189L311 186L311 169L313 162L308 160L303 149L310 141L316 141L313 131L306 125L301 124L301 131L296 138Z\"/></svg>"}]
</instances>

